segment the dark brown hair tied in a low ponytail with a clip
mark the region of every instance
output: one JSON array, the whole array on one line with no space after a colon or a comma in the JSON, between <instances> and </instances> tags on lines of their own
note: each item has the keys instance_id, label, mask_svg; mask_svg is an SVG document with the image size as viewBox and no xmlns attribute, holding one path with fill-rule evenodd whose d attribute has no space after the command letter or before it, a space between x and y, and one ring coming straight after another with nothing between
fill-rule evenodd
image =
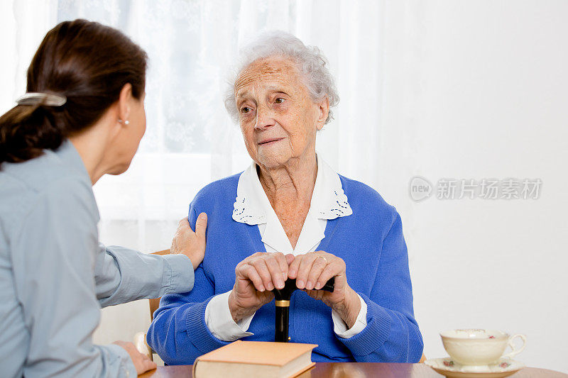
<instances>
[{"instance_id":1,"label":"dark brown hair tied in a low ponytail with a clip","mask_svg":"<svg viewBox=\"0 0 568 378\"><path fill-rule=\"evenodd\" d=\"M28 92L67 97L62 106L17 105L0 117L0 165L38 157L92 126L125 84L140 99L148 57L119 30L75 20L51 29L28 68Z\"/></svg>"}]
</instances>

